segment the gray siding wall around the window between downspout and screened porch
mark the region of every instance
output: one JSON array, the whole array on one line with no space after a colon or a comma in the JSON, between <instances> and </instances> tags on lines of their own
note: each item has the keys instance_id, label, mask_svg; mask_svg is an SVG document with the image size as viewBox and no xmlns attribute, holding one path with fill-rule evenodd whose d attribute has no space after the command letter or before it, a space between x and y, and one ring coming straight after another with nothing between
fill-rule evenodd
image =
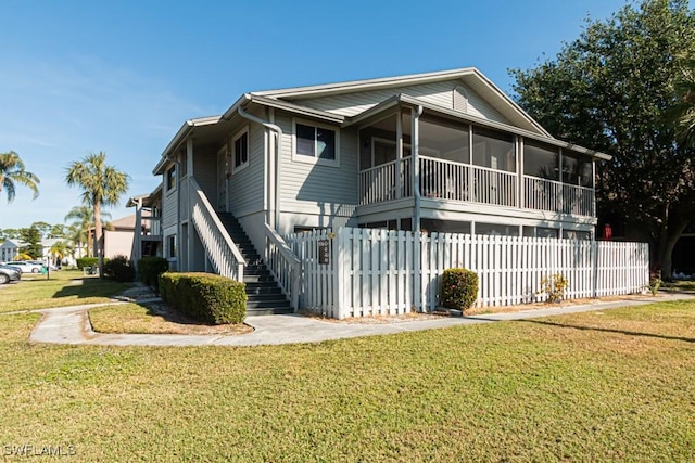
<instances>
[{"instance_id":1,"label":"gray siding wall around the window between downspout and screened porch","mask_svg":"<svg viewBox=\"0 0 695 463\"><path fill-rule=\"evenodd\" d=\"M307 123L306 119L300 119ZM308 121L311 123L311 121ZM325 166L295 160L292 157L292 117L279 114L276 124L283 131L282 171L280 180L280 209L290 221L301 222L296 215L305 216L304 223L314 227L334 227L354 215L357 204L357 132L341 130L339 166ZM289 213L289 214L286 214ZM313 217L309 217L313 216ZM336 221L336 217L343 220ZM292 224L288 224L288 228Z\"/></svg>"}]
</instances>

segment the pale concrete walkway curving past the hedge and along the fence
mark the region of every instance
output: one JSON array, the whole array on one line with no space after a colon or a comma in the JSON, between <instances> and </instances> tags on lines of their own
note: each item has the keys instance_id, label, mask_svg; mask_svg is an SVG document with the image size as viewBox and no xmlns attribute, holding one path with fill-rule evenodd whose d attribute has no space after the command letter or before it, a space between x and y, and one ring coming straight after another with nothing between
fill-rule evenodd
<instances>
[{"instance_id":1,"label":"pale concrete walkway curving past the hedge and along the fence","mask_svg":"<svg viewBox=\"0 0 695 463\"><path fill-rule=\"evenodd\" d=\"M641 306L657 301L693 299L693 294L660 294L656 297L593 303L578 306L552 307L506 313L471 317L441 317L428 320L395 321L388 323L348 323L324 321L316 318L289 316L260 316L247 318L253 333L241 335L180 335L180 334L102 334L96 333L87 310L106 303L36 310L43 314L29 336L31 343L102 345L102 346L262 346L295 343L319 343L359 336L375 336L442 329L504 320L523 320L564 313L606 310L618 307ZM138 299L143 303L144 300Z\"/></svg>"}]
</instances>

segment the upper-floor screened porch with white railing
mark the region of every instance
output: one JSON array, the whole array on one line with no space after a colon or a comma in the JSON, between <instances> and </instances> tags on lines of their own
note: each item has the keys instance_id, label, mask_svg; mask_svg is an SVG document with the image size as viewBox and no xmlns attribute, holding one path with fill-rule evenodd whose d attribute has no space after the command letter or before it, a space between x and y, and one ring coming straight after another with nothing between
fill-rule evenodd
<instances>
[{"instance_id":1,"label":"upper-floor screened porch with white railing","mask_svg":"<svg viewBox=\"0 0 695 463\"><path fill-rule=\"evenodd\" d=\"M594 160L586 154L409 110L359 133L361 206L414 197L417 185L420 197L443 202L595 215Z\"/></svg>"}]
</instances>

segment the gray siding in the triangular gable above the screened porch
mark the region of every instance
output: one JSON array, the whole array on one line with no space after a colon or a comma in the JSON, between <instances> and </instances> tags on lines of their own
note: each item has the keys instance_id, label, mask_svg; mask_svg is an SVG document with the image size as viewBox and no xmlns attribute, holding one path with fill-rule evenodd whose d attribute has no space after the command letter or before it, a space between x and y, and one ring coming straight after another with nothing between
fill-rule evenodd
<instances>
[{"instance_id":1,"label":"gray siding in the triangular gable above the screened porch","mask_svg":"<svg viewBox=\"0 0 695 463\"><path fill-rule=\"evenodd\" d=\"M498 111L488 104L478 93L460 80L445 80L441 82L421 83L417 86L394 87L372 91L357 91L330 97L312 99L296 99L296 103L316 110L328 111L343 116L355 116L369 110L374 105L393 97L405 93L409 97L421 99L424 102L437 104L446 108L453 108L453 91L456 87L463 87L468 94L468 114L510 124Z\"/></svg>"}]
</instances>

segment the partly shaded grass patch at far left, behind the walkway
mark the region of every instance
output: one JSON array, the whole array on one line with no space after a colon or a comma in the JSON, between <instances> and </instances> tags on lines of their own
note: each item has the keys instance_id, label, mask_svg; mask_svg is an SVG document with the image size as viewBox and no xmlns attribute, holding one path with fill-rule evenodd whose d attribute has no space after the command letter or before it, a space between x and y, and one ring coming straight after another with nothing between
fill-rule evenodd
<instances>
[{"instance_id":1,"label":"partly shaded grass patch at far left, behind the walkway","mask_svg":"<svg viewBox=\"0 0 695 463\"><path fill-rule=\"evenodd\" d=\"M104 303L129 286L98 276L83 276L80 270L55 271L48 278L24 274L22 281L0 286L0 313Z\"/></svg>"}]
</instances>

